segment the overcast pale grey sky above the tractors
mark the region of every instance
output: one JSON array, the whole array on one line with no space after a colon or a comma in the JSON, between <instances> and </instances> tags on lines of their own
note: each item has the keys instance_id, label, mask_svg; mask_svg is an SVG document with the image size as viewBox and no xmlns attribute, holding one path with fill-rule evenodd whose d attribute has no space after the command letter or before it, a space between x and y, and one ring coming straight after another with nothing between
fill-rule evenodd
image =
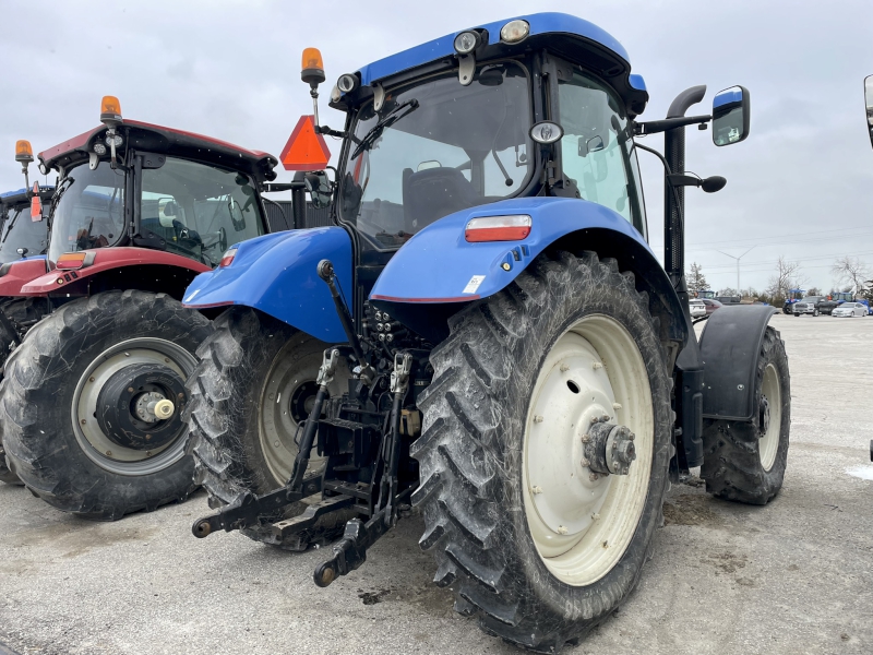
<instances>
[{"instance_id":1,"label":"overcast pale grey sky above the tractors","mask_svg":"<svg viewBox=\"0 0 873 655\"><path fill-rule=\"evenodd\" d=\"M311 112L299 76L303 47L324 55L326 99L339 74L370 61L557 7L624 45L651 95L643 119L662 118L695 84L708 92L690 112L708 112L721 88L750 90L748 141L716 148L710 132L687 131L686 167L728 179L717 194L686 192L687 262L703 265L713 288L737 283L734 260L718 250L740 255L754 246L742 258L743 287L765 287L780 254L801 262L808 287L830 288L840 254L873 267L873 151L863 108L863 78L873 74L870 0L0 0L0 191L23 186L16 139L43 151L96 127L103 95L117 95L127 118L278 155L298 117ZM326 103L321 118L342 127ZM662 138L644 143L660 150ZM338 144L330 145L336 154ZM641 156L660 254L662 171L653 155Z\"/></svg>"}]
</instances>

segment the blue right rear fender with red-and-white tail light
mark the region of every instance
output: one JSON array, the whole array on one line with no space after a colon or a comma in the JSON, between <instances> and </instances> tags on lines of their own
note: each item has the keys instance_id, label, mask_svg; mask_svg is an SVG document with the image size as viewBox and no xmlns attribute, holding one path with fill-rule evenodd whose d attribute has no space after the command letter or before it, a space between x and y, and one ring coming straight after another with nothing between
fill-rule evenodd
<instances>
[{"instance_id":1,"label":"blue right rear fender with red-and-white tail light","mask_svg":"<svg viewBox=\"0 0 873 655\"><path fill-rule=\"evenodd\" d=\"M530 234L521 241L467 242L470 218L526 214ZM578 230L609 229L639 243L643 236L620 214L585 200L516 198L450 214L400 248L373 286L372 300L463 302L497 294L546 248Z\"/></svg>"}]
</instances>

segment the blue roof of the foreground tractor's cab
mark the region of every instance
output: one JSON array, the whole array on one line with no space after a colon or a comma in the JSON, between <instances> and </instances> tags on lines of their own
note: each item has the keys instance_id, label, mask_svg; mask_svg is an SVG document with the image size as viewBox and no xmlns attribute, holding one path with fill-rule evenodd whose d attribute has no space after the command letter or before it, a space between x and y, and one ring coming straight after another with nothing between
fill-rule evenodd
<instances>
[{"instance_id":1,"label":"blue roof of the foreground tractor's cab","mask_svg":"<svg viewBox=\"0 0 873 655\"><path fill-rule=\"evenodd\" d=\"M500 29L510 21L523 20L530 25L529 35L518 44L504 44ZM488 58L492 56L517 55L529 48L547 48L593 69L608 79L624 97L634 114L641 114L648 102L646 83L642 75L631 74L631 58L619 40L594 23L565 13L536 13L513 16L485 25L478 25L447 34L369 63L358 71L361 85L367 86L391 79L427 63L455 56L455 37L469 29L487 31L485 48ZM477 59L479 57L477 56Z\"/></svg>"}]
</instances>

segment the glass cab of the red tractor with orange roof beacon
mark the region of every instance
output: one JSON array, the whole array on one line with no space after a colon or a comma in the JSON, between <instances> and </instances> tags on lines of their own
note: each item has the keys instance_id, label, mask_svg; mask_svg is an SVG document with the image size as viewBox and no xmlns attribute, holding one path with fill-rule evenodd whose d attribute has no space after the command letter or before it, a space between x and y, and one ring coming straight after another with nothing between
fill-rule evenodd
<instances>
[{"instance_id":1,"label":"glass cab of the red tractor with orange roof beacon","mask_svg":"<svg viewBox=\"0 0 873 655\"><path fill-rule=\"evenodd\" d=\"M25 293L68 283L64 294L70 286L84 293L81 277L119 266L162 265L189 279L217 266L229 245L267 231L261 191L276 177L273 156L124 120L111 96L103 100L101 121L39 154L40 170L56 170L58 183L47 279ZM56 282L55 269L80 273Z\"/></svg>"}]
</instances>

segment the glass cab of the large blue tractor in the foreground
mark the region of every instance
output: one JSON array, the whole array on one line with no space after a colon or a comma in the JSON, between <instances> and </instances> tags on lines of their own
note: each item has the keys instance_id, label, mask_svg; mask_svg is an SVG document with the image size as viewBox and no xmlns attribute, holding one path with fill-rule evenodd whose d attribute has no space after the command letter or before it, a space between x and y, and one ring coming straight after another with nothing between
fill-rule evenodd
<instances>
[{"instance_id":1,"label":"glass cab of the large blue tractor in the foreground","mask_svg":"<svg viewBox=\"0 0 873 655\"><path fill-rule=\"evenodd\" d=\"M347 112L347 139L335 211L355 230L360 265L385 264L450 214L505 214L537 196L597 203L645 238L632 140L645 85L623 50L547 33L547 21L470 29L434 43L443 60L410 66L408 51L339 79L331 106ZM530 223L519 212L470 227L468 240L499 240Z\"/></svg>"}]
</instances>

